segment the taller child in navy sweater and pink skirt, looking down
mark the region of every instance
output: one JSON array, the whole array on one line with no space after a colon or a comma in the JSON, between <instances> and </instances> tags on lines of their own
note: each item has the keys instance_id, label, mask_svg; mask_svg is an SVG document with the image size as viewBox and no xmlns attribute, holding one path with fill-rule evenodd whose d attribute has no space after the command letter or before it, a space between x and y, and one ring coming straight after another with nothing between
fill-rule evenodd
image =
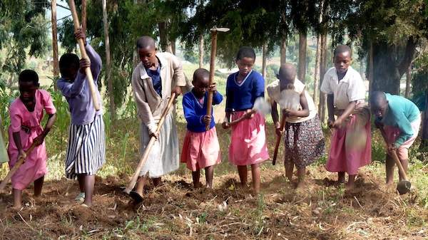
<instances>
[{"instance_id":1,"label":"taller child in navy sweater and pink skirt, looking down","mask_svg":"<svg viewBox=\"0 0 428 240\"><path fill-rule=\"evenodd\" d=\"M239 71L232 73L226 83L226 119L223 128L230 127L230 118L246 119L232 126L229 146L229 161L238 166L240 182L247 185L247 166L251 165L254 192L260 192L260 163L269 158L266 147L265 117L260 113L250 114L256 98L265 94L265 79L253 71L255 52L242 47L236 56Z\"/></svg>"}]
</instances>

